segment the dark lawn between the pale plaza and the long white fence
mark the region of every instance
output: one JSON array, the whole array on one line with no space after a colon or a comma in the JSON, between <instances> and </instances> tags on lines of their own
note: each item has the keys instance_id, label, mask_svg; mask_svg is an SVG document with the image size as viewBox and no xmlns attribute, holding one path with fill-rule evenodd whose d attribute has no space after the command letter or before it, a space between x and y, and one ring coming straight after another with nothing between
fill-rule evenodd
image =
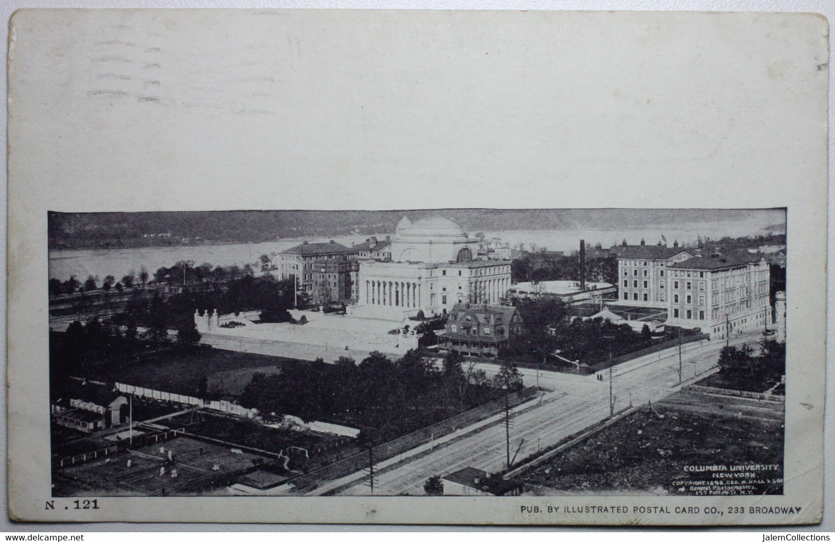
<instances>
[{"instance_id":1,"label":"dark lawn between the pale plaza and the long white fence","mask_svg":"<svg viewBox=\"0 0 835 542\"><path fill-rule=\"evenodd\" d=\"M210 348L190 352L170 350L128 364L110 365L103 369L103 374L96 375L95 378L175 394L205 397L205 394L201 393L201 383L204 379L205 387L210 394L230 394L233 389L220 386L218 374L250 368L264 368L272 372L276 367L281 367L283 361L283 358L273 356ZM234 391L237 392L239 389L242 389L240 382L236 382Z\"/></svg>"}]
</instances>

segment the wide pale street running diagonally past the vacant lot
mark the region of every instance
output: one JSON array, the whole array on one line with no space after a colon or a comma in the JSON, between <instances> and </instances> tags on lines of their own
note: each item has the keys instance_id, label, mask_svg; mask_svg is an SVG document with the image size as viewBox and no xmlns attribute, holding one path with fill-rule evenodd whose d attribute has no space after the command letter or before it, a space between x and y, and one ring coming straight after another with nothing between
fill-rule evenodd
<instances>
[{"instance_id":1,"label":"wide pale street running diagonally past the vacant lot","mask_svg":"<svg viewBox=\"0 0 835 542\"><path fill-rule=\"evenodd\" d=\"M761 334L738 335L731 339L732 345L756 343ZM701 341L682 347L682 379L691 379L695 374L704 373L716 365L719 351L725 346L724 340ZM630 404L655 402L677 389L679 357L678 349L667 349L648 354L620 364L613 369L612 389L615 395L615 412L628 408ZM488 376L497 367L479 364ZM536 372L521 369L525 385L534 385ZM549 391L542 403L527 409L511 419L510 455L516 454L516 461L536 452L540 448L556 444L560 439L575 434L610 415L609 371L603 371L604 380L595 375L578 376L561 373L539 373L539 385ZM519 453L516 453L516 450ZM505 468L506 445L504 423L493 424L487 429L473 431L460 439L434 449L428 454L405 461L375 475L374 494L399 495L423 494L423 484L430 476L444 475L462 469L476 467L488 472ZM370 488L362 480L345 479L353 483L338 494L365 495ZM339 484L333 484L338 487Z\"/></svg>"}]
</instances>

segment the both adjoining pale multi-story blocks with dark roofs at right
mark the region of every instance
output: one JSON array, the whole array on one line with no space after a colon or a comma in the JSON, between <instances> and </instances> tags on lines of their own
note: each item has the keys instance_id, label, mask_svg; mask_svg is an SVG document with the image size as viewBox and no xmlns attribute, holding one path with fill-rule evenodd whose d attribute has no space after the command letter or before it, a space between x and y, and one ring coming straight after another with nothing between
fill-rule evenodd
<instances>
[{"instance_id":1,"label":"both adjoining pale multi-story blocks with dark roofs at right","mask_svg":"<svg viewBox=\"0 0 835 542\"><path fill-rule=\"evenodd\" d=\"M666 325L724 339L771 321L768 260L761 253L702 255L691 248L626 245L618 256L618 304L666 309Z\"/></svg>"}]
</instances>

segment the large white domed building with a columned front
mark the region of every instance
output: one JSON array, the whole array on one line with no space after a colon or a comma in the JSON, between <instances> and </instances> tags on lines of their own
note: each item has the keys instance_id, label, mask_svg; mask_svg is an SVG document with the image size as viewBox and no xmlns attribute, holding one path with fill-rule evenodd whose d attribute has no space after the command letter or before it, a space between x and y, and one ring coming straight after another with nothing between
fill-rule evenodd
<instances>
[{"instance_id":1,"label":"large white domed building with a columned front","mask_svg":"<svg viewBox=\"0 0 835 542\"><path fill-rule=\"evenodd\" d=\"M447 314L456 304L498 304L510 288L510 261L478 259L478 241L448 218L403 217L392 261L360 262L359 299L349 314L403 321Z\"/></svg>"}]
</instances>

